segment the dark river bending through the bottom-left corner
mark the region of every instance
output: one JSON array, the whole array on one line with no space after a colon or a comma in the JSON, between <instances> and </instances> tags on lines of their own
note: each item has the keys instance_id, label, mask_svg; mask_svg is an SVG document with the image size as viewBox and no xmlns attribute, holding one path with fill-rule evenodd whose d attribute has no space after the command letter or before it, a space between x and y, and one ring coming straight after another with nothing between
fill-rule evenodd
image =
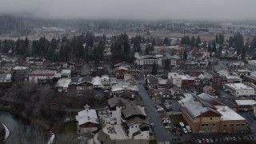
<instances>
[{"instance_id":1,"label":"dark river bending through the bottom-left corner","mask_svg":"<svg viewBox=\"0 0 256 144\"><path fill-rule=\"evenodd\" d=\"M4 123L10 130L10 136L6 139L6 144L34 143L31 142L31 139L33 139L31 135L34 135L34 130L32 130L30 124L5 111L0 111L0 122Z\"/></svg>"}]
</instances>

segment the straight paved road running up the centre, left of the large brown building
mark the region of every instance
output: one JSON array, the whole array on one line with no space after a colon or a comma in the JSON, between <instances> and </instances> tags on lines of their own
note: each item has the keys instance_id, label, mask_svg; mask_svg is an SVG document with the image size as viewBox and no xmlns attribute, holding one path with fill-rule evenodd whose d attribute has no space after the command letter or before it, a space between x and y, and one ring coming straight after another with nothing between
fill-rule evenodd
<instances>
[{"instance_id":1,"label":"straight paved road running up the centre, left of the large brown building","mask_svg":"<svg viewBox=\"0 0 256 144\"><path fill-rule=\"evenodd\" d=\"M144 82L144 80L140 80L139 82ZM162 118L160 118L156 108L154 107L154 103L151 101L149 95L146 93L143 85L138 85L138 90L141 93L142 101L146 105L146 114L150 118L150 123L154 122L154 134L155 138L158 141L171 141L172 138L176 138L173 134L170 134L165 126L162 124Z\"/></svg>"}]
</instances>

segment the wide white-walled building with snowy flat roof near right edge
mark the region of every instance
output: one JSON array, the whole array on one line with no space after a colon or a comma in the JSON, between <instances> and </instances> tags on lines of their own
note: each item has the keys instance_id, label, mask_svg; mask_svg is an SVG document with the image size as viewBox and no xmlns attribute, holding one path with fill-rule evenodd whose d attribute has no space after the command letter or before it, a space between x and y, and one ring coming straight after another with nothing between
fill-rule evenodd
<instances>
[{"instance_id":1,"label":"wide white-walled building with snowy flat roof near right edge","mask_svg":"<svg viewBox=\"0 0 256 144\"><path fill-rule=\"evenodd\" d=\"M229 90L236 97L256 95L256 86L253 83L226 83L223 88Z\"/></svg>"}]
</instances>

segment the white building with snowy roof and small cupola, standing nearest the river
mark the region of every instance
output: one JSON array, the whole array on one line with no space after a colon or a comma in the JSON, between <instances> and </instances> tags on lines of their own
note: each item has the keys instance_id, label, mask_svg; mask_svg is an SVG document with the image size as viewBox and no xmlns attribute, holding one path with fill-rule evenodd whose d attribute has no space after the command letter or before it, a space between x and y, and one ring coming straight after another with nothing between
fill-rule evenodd
<instances>
[{"instance_id":1,"label":"white building with snowy roof and small cupola, standing nearest the river","mask_svg":"<svg viewBox=\"0 0 256 144\"><path fill-rule=\"evenodd\" d=\"M78 121L78 132L80 134L90 133L98 130L98 116L96 110L90 109L90 106L85 106L86 110L78 112L75 116Z\"/></svg>"}]
</instances>

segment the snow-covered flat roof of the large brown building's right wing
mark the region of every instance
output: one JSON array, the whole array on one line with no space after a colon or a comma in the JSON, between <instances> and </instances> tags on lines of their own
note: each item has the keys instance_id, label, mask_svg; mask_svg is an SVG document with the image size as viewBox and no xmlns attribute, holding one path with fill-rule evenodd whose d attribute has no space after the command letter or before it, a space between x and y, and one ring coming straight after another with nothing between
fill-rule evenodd
<instances>
[{"instance_id":1,"label":"snow-covered flat roof of the large brown building's right wing","mask_svg":"<svg viewBox=\"0 0 256 144\"><path fill-rule=\"evenodd\" d=\"M215 106L217 111L222 114L222 121L246 120L240 114L230 109L228 106Z\"/></svg>"}]
</instances>

